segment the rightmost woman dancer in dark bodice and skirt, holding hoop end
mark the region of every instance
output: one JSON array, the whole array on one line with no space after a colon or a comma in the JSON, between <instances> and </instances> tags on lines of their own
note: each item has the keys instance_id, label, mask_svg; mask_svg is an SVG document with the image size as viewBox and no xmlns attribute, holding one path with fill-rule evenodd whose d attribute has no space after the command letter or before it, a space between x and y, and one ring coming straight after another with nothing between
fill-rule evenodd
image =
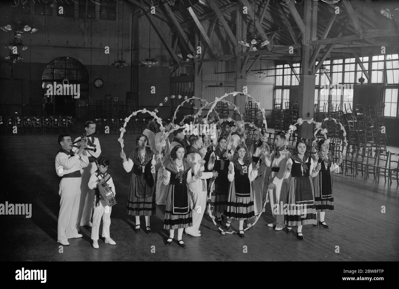
<instances>
[{"instance_id":1,"label":"rightmost woman dancer in dark bodice and skirt, holding hoop end","mask_svg":"<svg viewBox=\"0 0 399 289\"><path fill-rule=\"evenodd\" d=\"M326 222L324 222L324 216L327 210L334 210L334 196L332 189L332 178L331 172L335 171L340 164L342 159L338 159L335 163L332 161L332 154L328 152L329 140L320 140L318 142L319 151L318 163L321 164L320 173L313 178L314 187L314 201L316 202L316 214L320 212L319 226L328 228ZM317 220L317 219L316 219ZM315 225L316 226L316 225Z\"/></svg>"}]
</instances>

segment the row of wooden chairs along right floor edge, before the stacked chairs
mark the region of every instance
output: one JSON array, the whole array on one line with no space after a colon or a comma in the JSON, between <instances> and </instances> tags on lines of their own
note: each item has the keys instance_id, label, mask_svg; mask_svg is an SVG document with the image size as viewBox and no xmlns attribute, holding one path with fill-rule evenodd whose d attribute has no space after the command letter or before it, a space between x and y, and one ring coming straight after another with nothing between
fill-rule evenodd
<instances>
[{"instance_id":1,"label":"row of wooden chairs along right floor edge, before the stacked chairs","mask_svg":"<svg viewBox=\"0 0 399 289\"><path fill-rule=\"evenodd\" d=\"M336 160L340 157L339 151L340 149L336 149L334 152ZM341 169L344 175L350 170L350 175L357 177L360 171L364 180L373 174L376 182L379 182L380 177L384 177L385 182L388 179L388 183L391 184L396 180L399 185L399 153L391 153L381 148L349 145L342 158Z\"/></svg>"}]
</instances>

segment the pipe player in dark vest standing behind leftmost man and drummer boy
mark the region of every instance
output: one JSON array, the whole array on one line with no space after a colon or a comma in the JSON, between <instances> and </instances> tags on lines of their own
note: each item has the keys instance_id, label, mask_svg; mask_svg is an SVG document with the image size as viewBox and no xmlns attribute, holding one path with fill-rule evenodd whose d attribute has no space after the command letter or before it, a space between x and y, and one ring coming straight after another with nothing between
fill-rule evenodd
<instances>
[{"instance_id":1,"label":"pipe player in dark vest standing behind leftmost man and drummer boy","mask_svg":"<svg viewBox=\"0 0 399 289\"><path fill-rule=\"evenodd\" d=\"M89 136L96 132L96 124L95 122L89 120L85 123L85 133L84 136ZM81 137L76 138L80 140ZM88 150L87 157L89 158L89 165L83 169L81 169L82 174L82 183L81 183L81 198L80 198L80 208L79 208L79 222L81 226L92 226L91 223L91 214L93 211L93 202L94 202L94 190L89 189L89 179L91 175L97 171L97 165L95 160L101 154L101 146L98 138L94 136L90 136L87 141L87 147L96 149L96 152ZM77 148L73 147L73 151L76 151Z\"/></svg>"}]
</instances>

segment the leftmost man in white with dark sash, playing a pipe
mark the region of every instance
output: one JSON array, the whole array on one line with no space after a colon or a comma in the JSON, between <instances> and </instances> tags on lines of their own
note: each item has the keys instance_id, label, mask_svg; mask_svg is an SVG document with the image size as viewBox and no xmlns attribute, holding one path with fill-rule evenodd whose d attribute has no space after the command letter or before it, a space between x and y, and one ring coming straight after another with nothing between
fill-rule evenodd
<instances>
[{"instance_id":1,"label":"leftmost man in white with dark sash, playing a pipe","mask_svg":"<svg viewBox=\"0 0 399 289\"><path fill-rule=\"evenodd\" d=\"M81 238L78 234L78 212L80 201L81 169L89 165L86 155L87 139L79 142L79 149L76 154L72 151L72 140L69 134L61 134L58 137L58 144L61 149L55 157L55 171L59 177L59 214L57 227L57 242L68 246L68 239Z\"/></svg>"}]
</instances>

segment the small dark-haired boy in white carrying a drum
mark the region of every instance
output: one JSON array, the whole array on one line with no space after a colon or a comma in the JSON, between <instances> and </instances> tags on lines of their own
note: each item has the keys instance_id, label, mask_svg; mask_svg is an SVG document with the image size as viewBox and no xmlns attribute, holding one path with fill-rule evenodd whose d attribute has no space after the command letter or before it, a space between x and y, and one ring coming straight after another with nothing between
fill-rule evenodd
<instances>
[{"instance_id":1,"label":"small dark-haired boy in white carrying a drum","mask_svg":"<svg viewBox=\"0 0 399 289\"><path fill-rule=\"evenodd\" d=\"M109 161L105 157L99 157L97 159L97 171L95 171L89 180L89 189L94 189L94 212L93 212L93 227L91 228L91 239L93 240L93 248L98 249L99 239L99 228L101 218L103 218L103 234L105 237L105 243L110 245L116 245L114 240L109 236L109 226L111 225L111 206L108 206L105 200L101 197L98 189L99 183L106 181L109 188L115 196L115 186L112 181L111 175L107 173Z\"/></svg>"}]
</instances>

